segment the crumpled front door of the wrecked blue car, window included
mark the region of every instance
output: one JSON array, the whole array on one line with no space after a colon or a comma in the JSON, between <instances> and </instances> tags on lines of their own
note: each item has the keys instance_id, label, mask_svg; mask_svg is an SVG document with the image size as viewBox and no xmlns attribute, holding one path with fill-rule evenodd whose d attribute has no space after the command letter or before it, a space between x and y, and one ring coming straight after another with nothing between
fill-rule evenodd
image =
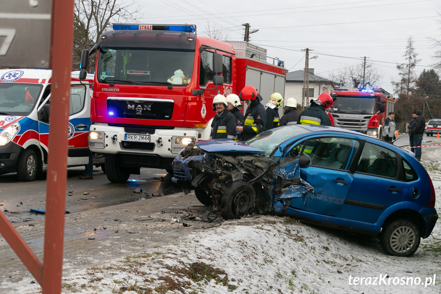
<instances>
[{"instance_id":1,"label":"crumpled front door of the wrecked blue car, window included","mask_svg":"<svg viewBox=\"0 0 441 294\"><path fill-rule=\"evenodd\" d=\"M295 161L275 171L278 177L292 182L280 198L289 198L290 209L338 216L353 182L347 168L358 146L356 140L338 137L313 138L297 144L286 152L287 156L299 150L310 163L299 167Z\"/></svg>"}]
</instances>

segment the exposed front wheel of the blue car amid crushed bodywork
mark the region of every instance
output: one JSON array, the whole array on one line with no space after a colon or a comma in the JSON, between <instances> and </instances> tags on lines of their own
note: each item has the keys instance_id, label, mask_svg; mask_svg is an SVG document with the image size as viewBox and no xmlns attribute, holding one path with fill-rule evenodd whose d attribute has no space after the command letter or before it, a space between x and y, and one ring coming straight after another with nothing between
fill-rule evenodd
<instances>
[{"instance_id":1,"label":"exposed front wheel of the blue car amid crushed bodywork","mask_svg":"<svg viewBox=\"0 0 441 294\"><path fill-rule=\"evenodd\" d=\"M221 197L221 214L224 219L241 218L254 209L256 192L246 182L238 180L228 187Z\"/></svg>"}]
</instances>

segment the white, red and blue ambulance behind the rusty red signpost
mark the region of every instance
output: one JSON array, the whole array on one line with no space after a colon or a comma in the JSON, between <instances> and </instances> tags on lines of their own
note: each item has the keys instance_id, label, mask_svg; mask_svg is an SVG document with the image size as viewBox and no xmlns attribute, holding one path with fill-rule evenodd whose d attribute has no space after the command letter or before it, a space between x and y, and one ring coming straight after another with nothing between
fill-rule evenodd
<instances>
[{"instance_id":1,"label":"white, red and blue ambulance behind the rusty red signpost","mask_svg":"<svg viewBox=\"0 0 441 294\"><path fill-rule=\"evenodd\" d=\"M48 168L52 70L0 70L0 174L31 182ZM67 166L88 163L89 81L72 73ZM56 97L54 98L56 99Z\"/></svg>"}]
</instances>

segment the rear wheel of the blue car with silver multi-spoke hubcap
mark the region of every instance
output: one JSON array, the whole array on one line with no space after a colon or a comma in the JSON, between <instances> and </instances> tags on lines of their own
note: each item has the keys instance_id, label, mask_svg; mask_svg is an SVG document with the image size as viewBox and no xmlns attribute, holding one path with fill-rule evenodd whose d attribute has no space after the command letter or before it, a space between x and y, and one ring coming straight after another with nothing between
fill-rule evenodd
<instances>
[{"instance_id":1,"label":"rear wheel of the blue car with silver multi-spoke hubcap","mask_svg":"<svg viewBox=\"0 0 441 294\"><path fill-rule=\"evenodd\" d=\"M380 235L381 247L388 255L411 256L420 246L420 229L410 220L389 222Z\"/></svg>"}]
</instances>

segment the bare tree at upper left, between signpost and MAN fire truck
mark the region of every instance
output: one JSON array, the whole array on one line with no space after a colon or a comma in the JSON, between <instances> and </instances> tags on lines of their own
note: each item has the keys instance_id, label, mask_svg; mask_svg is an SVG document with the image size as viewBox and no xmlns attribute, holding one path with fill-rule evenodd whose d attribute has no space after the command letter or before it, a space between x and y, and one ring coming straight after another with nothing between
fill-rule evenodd
<instances>
[{"instance_id":1,"label":"bare tree at upper left, between signpost and MAN fire truck","mask_svg":"<svg viewBox=\"0 0 441 294\"><path fill-rule=\"evenodd\" d=\"M78 70L85 44L98 42L111 23L137 22L141 8L136 0L75 0L72 68ZM94 66L91 61L90 66Z\"/></svg>"}]
</instances>

